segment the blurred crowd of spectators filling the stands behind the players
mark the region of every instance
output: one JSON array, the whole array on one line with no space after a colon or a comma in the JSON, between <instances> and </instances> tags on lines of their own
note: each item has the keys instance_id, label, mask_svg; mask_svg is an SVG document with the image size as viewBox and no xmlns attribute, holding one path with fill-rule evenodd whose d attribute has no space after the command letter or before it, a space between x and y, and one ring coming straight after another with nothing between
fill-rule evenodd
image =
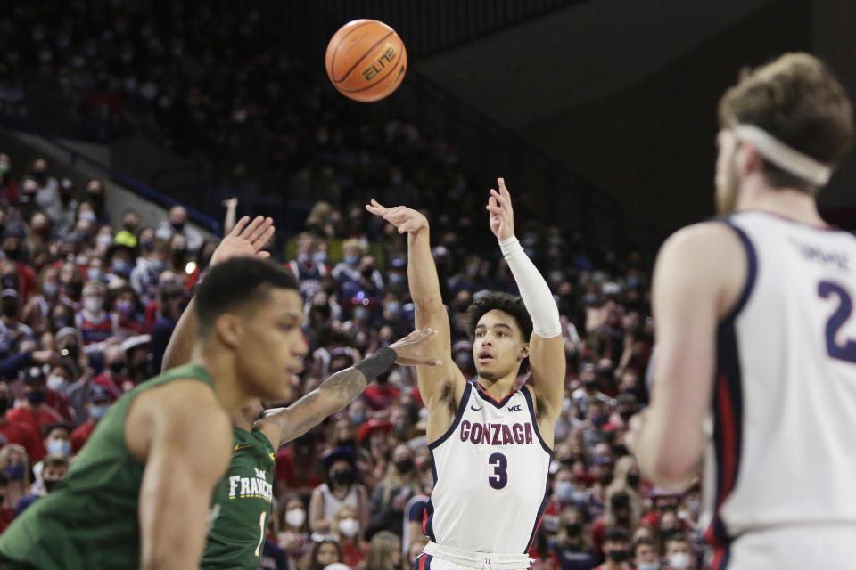
<instances>
[{"instance_id":1,"label":"blurred crowd of spectators filling the stands behind the players","mask_svg":"<svg viewBox=\"0 0 856 570\"><path fill-rule=\"evenodd\" d=\"M98 16L85 4L0 15L4 124L61 96L63 120L88 138L144 134L204 154L230 194L287 186L309 200L301 227L280 227L269 244L305 301L310 352L295 399L412 330L406 240L363 205L422 208L451 356L473 377L465 309L482 291L516 287L483 209L490 182L468 171L453 137L371 107L355 113L297 58L266 49L253 12L217 18L173 2L137 13L117 2ZM648 252L545 224L526 189L508 183L517 235L556 297L568 362L533 567L701 567L698 488L648 485L624 445L647 402ZM0 531L50 493L111 403L160 371L218 244L181 206L144 225L134 209L105 208L106 191L99 179L55 175L44 157L0 153ZM237 200L222 211L226 231L243 213ZM406 568L424 545L432 484L414 372L396 367L277 452L261 567Z\"/></svg>"}]
</instances>

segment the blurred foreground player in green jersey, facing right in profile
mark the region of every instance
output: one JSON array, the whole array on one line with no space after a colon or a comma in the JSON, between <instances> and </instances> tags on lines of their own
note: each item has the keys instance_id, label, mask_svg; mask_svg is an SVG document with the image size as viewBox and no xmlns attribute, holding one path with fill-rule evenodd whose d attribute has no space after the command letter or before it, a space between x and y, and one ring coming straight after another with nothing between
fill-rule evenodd
<instances>
[{"instance_id":1,"label":"blurred foreground player in green jersey, facing right in profile","mask_svg":"<svg viewBox=\"0 0 856 570\"><path fill-rule=\"evenodd\" d=\"M293 276L254 259L272 220L243 218L193 307L191 364L122 396L56 489L0 536L7 568L192 568L233 451L229 414L279 401L306 353Z\"/></svg>"}]
</instances>

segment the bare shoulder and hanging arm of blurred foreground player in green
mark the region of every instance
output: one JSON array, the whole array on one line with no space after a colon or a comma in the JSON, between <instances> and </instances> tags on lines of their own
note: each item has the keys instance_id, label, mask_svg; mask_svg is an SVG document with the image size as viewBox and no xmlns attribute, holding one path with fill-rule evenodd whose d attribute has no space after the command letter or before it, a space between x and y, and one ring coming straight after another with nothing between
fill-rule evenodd
<instances>
[{"instance_id":1,"label":"bare shoulder and hanging arm of blurred foreground player in green","mask_svg":"<svg viewBox=\"0 0 856 570\"><path fill-rule=\"evenodd\" d=\"M170 382L138 400L128 416L126 439L132 450L144 448L140 567L197 568L211 494L232 450L228 417L210 387L197 380Z\"/></svg>"}]
</instances>

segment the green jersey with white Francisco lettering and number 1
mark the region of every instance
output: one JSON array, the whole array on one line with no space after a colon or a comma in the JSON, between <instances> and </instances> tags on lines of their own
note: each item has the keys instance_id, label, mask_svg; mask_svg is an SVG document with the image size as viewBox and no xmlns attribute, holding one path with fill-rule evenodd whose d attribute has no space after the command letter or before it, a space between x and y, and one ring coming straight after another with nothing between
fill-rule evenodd
<instances>
[{"instance_id":1,"label":"green jersey with white Francisco lettering and number 1","mask_svg":"<svg viewBox=\"0 0 856 570\"><path fill-rule=\"evenodd\" d=\"M226 485L214 492L218 517L208 534L202 568L256 570L268 535L274 448L259 431L232 428L235 451Z\"/></svg>"}]
</instances>

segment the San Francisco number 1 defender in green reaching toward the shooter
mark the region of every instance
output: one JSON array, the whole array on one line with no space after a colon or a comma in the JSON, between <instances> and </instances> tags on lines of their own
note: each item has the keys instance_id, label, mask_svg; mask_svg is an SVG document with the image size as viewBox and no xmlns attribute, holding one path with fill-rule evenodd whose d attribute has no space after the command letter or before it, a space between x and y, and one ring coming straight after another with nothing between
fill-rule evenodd
<instances>
[{"instance_id":1,"label":"San Francisco number 1 defender in green reaching toward the shooter","mask_svg":"<svg viewBox=\"0 0 856 570\"><path fill-rule=\"evenodd\" d=\"M196 317L191 300L169 338L163 359L164 370L190 359L189 339L196 330ZM218 513L208 535L202 556L202 568L255 570L264 550L273 500L274 453L296 437L317 426L327 416L342 410L362 393L368 382L389 368L393 362L414 366L438 366L439 360L418 353L422 345L436 335L428 329L418 330L381 349L363 362L325 379L315 390L287 408L268 410L255 401L232 415L235 447L224 479L217 486L213 509Z\"/></svg>"}]
</instances>

